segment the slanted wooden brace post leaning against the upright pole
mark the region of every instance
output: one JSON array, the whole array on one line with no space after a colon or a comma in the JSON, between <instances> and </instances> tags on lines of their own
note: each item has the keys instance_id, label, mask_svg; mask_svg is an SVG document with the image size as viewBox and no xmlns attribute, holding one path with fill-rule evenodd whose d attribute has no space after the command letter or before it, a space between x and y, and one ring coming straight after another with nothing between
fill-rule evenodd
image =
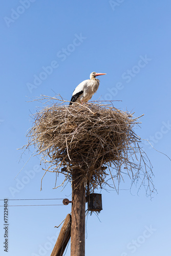
<instances>
[{"instance_id":1,"label":"slanted wooden brace post leaning against the upright pole","mask_svg":"<svg viewBox=\"0 0 171 256\"><path fill-rule=\"evenodd\" d=\"M62 256L71 236L71 215L68 214L63 223L51 256Z\"/></svg>"}]
</instances>

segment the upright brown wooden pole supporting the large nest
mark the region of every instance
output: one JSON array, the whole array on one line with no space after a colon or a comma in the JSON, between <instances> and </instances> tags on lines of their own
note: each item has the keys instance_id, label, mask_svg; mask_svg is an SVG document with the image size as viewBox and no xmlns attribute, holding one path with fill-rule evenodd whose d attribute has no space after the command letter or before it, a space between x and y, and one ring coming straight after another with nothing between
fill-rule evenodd
<instances>
[{"instance_id":1,"label":"upright brown wooden pole supporting the large nest","mask_svg":"<svg viewBox=\"0 0 171 256\"><path fill-rule=\"evenodd\" d=\"M85 210L86 187L81 185L79 170L72 173L72 211L71 211L71 256L85 255Z\"/></svg>"}]
</instances>

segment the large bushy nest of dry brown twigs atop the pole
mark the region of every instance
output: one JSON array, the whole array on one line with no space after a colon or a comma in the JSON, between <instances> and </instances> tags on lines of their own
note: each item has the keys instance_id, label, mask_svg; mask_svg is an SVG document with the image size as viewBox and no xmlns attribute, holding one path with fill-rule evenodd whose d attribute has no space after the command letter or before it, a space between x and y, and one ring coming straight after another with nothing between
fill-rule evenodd
<instances>
[{"instance_id":1,"label":"large bushy nest of dry brown twigs atop the pole","mask_svg":"<svg viewBox=\"0 0 171 256\"><path fill-rule=\"evenodd\" d=\"M71 181L72 173L77 171L87 193L111 186L111 180L117 190L116 182L119 184L125 173L132 184L141 179L140 186L143 184L151 194L152 166L143 156L140 137L133 130L138 118L112 103L69 107L62 99L45 98L53 102L33 115L27 135L27 146L34 144L37 154L41 154L45 172L62 173L64 181Z\"/></svg>"}]
</instances>

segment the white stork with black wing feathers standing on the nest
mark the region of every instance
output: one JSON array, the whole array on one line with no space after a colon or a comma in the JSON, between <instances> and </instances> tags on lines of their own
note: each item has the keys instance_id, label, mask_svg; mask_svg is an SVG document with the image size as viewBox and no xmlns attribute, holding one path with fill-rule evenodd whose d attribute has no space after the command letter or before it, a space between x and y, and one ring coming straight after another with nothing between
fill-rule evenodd
<instances>
[{"instance_id":1,"label":"white stork with black wing feathers standing on the nest","mask_svg":"<svg viewBox=\"0 0 171 256\"><path fill-rule=\"evenodd\" d=\"M90 74L90 79L84 80L78 84L72 94L70 105L72 105L74 102L83 103L90 100L99 87L100 81L96 78L96 76L101 75L106 74L92 72Z\"/></svg>"}]
</instances>

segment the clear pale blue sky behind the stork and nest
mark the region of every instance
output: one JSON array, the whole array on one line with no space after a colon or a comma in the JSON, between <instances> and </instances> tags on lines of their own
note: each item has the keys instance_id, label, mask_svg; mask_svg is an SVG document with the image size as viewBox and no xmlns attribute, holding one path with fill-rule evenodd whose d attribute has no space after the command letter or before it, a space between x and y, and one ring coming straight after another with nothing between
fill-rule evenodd
<instances>
[{"instance_id":1,"label":"clear pale blue sky behind the stork and nest","mask_svg":"<svg viewBox=\"0 0 171 256\"><path fill-rule=\"evenodd\" d=\"M100 77L92 99L121 100L114 102L116 108L144 114L136 133L171 156L170 1L9 0L1 1L0 7L2 200L71 200L70 184L53 189L51 173L40 191L44 172L39 159L32 157L26 164L29 153L20 159L22 151L17 148L27 143L29 115L36 111L37 103L27 102L28 98L59 93L70 100L75 87L93 71L107 75ZM48 69L50 65L53 68ZM143 146L153 165L158 194L150 200L143 187L139 195L138 187L131 194L127 179L120 184L127 190L119 195L97 190L103 210L98 217L86 218L86 255L170 255L171 162L148 144ZM58 178L58 185L62 179ZM62 204L62 200L16 202L24 203ZM70 212L71 204L9 207L8 256L50 255L60 231L54 226ZM7 255L3 207L0 223L0 253Z\"/></svg>"}]
</instances>

